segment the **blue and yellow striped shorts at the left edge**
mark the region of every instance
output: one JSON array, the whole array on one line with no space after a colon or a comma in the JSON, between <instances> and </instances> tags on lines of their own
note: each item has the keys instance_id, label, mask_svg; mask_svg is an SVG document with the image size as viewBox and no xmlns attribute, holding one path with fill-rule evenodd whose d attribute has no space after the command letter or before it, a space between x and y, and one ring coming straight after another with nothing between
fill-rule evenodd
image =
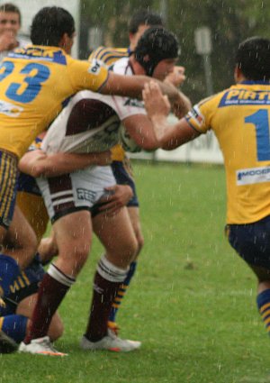
<instances>
[{"instance_id":1,"label":"blue and yellow striped shorts at the left edge","mask_svg":"<svg viewBox=\"0 0 270 383\"><path fill-rule=\"evenodd\" d=\"M0 225L8 229L13 216L18 183L18 160L13 153L0 151Z\"/></svg>"}]
</instances>

